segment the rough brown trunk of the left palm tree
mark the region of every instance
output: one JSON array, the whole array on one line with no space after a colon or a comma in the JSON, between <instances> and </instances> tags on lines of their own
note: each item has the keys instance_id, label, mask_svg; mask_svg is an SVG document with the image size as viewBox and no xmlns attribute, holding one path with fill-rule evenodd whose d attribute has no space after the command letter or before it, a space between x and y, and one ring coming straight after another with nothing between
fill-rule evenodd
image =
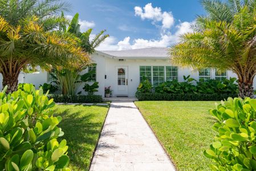
<instances>
[{"instance_id":1,"label":"rough brown trunk of the left palm tree","mask_svg":"<svg viewBox=\"0 0 256 171\"><path fill-rule=\"evenodd\" d=\"M7 86L6 93L17 91L19 74L2 73L3 87Z\"/></svg>"}]
</instances>

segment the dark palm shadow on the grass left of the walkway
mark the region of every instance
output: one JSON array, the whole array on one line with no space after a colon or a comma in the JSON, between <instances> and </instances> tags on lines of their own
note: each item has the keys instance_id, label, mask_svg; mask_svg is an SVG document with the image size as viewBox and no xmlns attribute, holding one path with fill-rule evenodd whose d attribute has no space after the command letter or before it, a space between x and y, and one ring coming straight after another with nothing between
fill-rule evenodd
<instances>
[{"instance_id":1,"label":"dark palm shadow on the grass left of the walkway","mask_svg":"<svg viewBox=\"0 0 256 171\"><path fill-rule=\"evenodd\" d=\"M71 112L70 109L65 109L59 116L63 118L59 127L64 132L60 140L67 140L72 170L89 170L104 118L95 120L99 117L97 113L89 112L83 115L82 110Z\"/></svg>"}]
</instances>

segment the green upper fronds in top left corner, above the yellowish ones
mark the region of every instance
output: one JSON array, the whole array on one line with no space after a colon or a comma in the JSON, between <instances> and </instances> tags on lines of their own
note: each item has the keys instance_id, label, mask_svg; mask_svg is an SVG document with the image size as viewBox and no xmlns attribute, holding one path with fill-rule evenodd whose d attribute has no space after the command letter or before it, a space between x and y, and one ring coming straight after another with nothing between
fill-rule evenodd
<instances>
[{"instance_id":1,"label":"green upper fronds in top left corner, above the yellowish ones","mask_svg":"<svg viewBox=\"0 0 256 171\"><path fill-rule=\"evenodd\" d=\"M68 3L61 0L1 0L0 15L11 26L18 26L23 19L36 16L38 24L48 31L57 28L59 23L67 23L58 14L69 7Z\"/></svg>"}]
</instances>

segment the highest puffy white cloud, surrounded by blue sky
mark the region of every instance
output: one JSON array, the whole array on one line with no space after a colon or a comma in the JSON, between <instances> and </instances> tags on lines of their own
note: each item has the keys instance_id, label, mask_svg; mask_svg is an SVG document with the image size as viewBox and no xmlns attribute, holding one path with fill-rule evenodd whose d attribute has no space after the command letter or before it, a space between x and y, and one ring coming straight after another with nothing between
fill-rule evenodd
<instances>
[{"instance_id":1,"label":"highest puffy white cloud, surrounded by blue sky","mask_svg":"<svg viewBox=\"0 0 256 171\"><path fill-rule=\"evenodd\" d=\"M139 16L141 19L152 20L153 25L157 22L162 22L162 28L170 28L174 25L174 18L171 12L162 12L160 7L153 7L152 3L148 3L143 8L136 6L134 8L135 16Z\"/></svg>"}]
</instances>

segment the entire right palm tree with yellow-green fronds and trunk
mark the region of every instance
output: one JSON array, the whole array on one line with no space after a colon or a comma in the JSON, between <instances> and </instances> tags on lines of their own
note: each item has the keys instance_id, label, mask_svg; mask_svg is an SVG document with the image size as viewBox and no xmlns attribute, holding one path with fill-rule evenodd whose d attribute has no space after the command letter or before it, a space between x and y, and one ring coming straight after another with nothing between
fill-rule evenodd
<instances>
[{"instance_id":1,"label":"entire right palm tree with yellow-green fronds and trunk","mask_svg":"<svg viewBox=\"0 0 256 171\"><path fill-rule=\"evenodd\" d=\"M178 66L231 70L238 76L239 96L253 96L256 74L256 1L203 0L208 13L193 32L181 36L169 55Z\"/></svg>"}]
</instances>

